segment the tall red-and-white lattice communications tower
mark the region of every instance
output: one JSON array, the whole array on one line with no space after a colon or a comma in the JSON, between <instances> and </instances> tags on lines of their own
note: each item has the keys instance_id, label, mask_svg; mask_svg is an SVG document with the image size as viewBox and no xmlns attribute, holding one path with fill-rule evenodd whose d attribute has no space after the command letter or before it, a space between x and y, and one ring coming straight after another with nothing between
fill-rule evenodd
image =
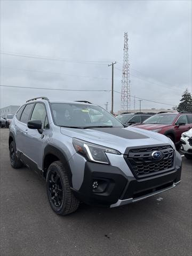
<instances>
[{"instance_id":1,"label":"tall red-and-white lattice communications tower","mask_svg":"<svg viewBox=\"0 0 192 256\"><path fill-rule=\"evenodd\" d=\"M130 65L128 54L128 35L124 33L124 48L123 48L123 76L122 76L122 93L121 93L121 109L128 111L131 104L130 95Z\"/></svg>"}]
</instances>

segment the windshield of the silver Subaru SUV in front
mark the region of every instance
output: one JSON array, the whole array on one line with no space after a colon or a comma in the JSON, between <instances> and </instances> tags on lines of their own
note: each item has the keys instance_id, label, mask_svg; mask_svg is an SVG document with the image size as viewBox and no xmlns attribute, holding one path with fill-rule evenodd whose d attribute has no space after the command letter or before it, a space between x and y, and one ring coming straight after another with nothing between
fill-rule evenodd
<instances>
[{"instance_id":1,"label":"windshield of the silver Subaru SUV in front","mask_svg":"<svg viewBox=\"0 0 192 256\"><path fill-rule=\"evenodd\" d=\"M105 109L76 103L51 103L53 121L66 127L123 127L123 125Z\"/></svg>"}]
</instances>

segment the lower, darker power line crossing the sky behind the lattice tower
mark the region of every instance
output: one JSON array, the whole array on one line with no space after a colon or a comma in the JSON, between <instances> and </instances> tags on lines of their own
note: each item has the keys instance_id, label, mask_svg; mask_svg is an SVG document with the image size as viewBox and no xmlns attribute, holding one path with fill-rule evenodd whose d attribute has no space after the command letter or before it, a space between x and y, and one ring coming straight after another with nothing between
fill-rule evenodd
<instances>
[{"instance_id":1,"label":"lower, darker power line crossing the sky behind the lattice tower","mask_svg":"<svg viewBox=\"0 0 192 256\"><path fill-rule=\"evenodd\" d=\"M28 86L13 86L13 85L0 85L1 87L12 87L12 88L25 88L25 89L40 89L40 90L53 90L53 91L76 91L76 92L111 92L111 90L73 90L73 89L57 89L57 88L41 88L41 87L28 87ZM116 93L120 93L118 91L114 91ZM158 102L158 101L154 101L154 100L148 100L148 99L143 99L143 98L139 98L139 97L135 97L132 96L131 97L135 98L135 99L140 99L140 100L146 100L149 102L154 102L154 103L159 103L159 104L163 104L163 105L169 105L169 106L176 106L177 104L173 105L173 104L168 104L168 103L164 103L164 102Z\"/></svg>"}]
</instances>

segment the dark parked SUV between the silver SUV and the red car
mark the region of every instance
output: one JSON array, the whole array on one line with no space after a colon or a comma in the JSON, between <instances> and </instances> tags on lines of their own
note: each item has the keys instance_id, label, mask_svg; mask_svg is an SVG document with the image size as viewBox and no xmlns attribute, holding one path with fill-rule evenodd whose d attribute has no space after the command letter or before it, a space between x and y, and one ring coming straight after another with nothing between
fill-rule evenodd
<instances>
[{"instance_id":1,"label":"dark parked SUV between the silver SUV and the red car","mask_svg":"<svg viewBox=\"0 0 192 256\"><path fill-rule=\"evenodd\" d=\"M116 116L116 118L119 119L119 121L121 121L125 125L132 125L136 123L140 124L153 115L155 115L155 113L122 113L121 115Z\"/></svg>"}]
</instances>

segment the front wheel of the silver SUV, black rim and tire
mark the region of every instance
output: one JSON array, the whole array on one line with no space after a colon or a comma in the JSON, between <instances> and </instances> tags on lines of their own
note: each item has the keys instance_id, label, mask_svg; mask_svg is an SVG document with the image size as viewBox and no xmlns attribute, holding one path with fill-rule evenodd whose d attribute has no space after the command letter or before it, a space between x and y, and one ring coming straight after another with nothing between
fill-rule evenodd
<instances>
[{"instance_id":1,"label":"front wheel of the silver SUV, black rim and tire","mask_svg":"<svg viewBox=\"0 0 192 256\"><path fill-rule=\"evenodd\" d=\"M60 161L53 162L47 170L46 190L55 213L67 215L78 209L79 200L70 189L67 171Z\"/></svg>"}]
</instances>

